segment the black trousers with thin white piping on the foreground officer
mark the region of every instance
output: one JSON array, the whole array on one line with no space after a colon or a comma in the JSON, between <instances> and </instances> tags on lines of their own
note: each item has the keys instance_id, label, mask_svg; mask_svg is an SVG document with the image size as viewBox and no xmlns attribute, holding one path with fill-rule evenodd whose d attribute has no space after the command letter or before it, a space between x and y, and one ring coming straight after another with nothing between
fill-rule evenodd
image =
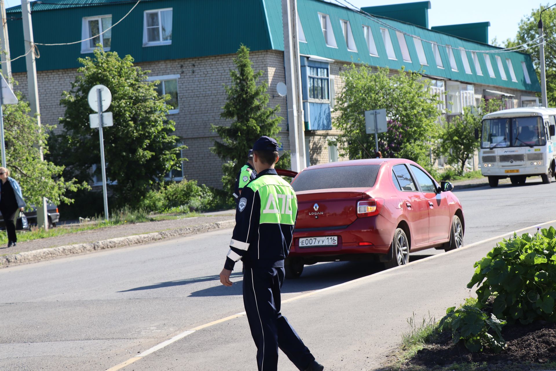
<instances>
[{"instance_id":1,"label":"black trousers with thin white piping on the foreground officer","mask_svg":"<svg viewBox=\"0 0 556 371\"><path fill-rule=\"evenodd\" d=\"M259 371L276 371L278 348L300 370L315 360L280 313L284 268L245 268L243 293L251 335L257 346Z\"/></svg>"}]
</instances>

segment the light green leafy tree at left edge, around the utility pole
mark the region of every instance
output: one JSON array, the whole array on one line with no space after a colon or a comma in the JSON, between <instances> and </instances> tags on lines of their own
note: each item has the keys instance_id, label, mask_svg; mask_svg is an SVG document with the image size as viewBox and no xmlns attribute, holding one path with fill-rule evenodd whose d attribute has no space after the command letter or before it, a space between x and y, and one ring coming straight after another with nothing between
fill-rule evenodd
<instances>
[{"instance_id":1,"label":"light green leafy tree at left edge, around the utility pole","mask_svg":"<svg viewBox=\"0 0 556 371\"><path fill-rule=\"evenodd\" d=\"M3 106L6 166L11 171L10 176L21 185L28 205L38 205L42 197L57 205L60 202L71 204L73 199L67 197L66 192L88 189L87 183L78 184L76 179L66 181L61 176L64 166L41 160L39 145L43 155L48 156L47 132L53 127L37 126L37 119L29 115L29 103L21 92L16 91L16 96L17 104Z\"/></svg>"}]
</instances>

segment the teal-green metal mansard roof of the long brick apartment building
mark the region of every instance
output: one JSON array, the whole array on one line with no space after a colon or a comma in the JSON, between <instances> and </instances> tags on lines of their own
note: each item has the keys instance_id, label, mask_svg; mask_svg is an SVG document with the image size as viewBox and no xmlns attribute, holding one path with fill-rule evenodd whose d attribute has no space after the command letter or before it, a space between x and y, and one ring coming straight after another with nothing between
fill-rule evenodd
<instances>
[{"instance_id":1,"label":"teal-green metal mansard roof of the long brick apartment building","mask_svg":"<svg viewBox=\"0 0 556 371\"><path fill-rule=\"evenodd\" d=\"M54 9L58 5L35 4L32 17L34 39L37 43L78 41L81 38L83 17L112 14L112 22L116 23L134 4L134 2L121 3L117 0L49 0L48 2L54 1L58 3L71 2L72 4L82 2L83 6L70 7L67 5L66 8ZM93 3L102 4L90 6ZM417 4L421 4L420 6L423 8L424 3L427 2ZM39 6L44 8L39 8ZM298 0L297 7L307 39L306 43L300 43L302 54L331 58L332 60L346 63L351 61L357 63L363 62L372 66L389 67L395 70L399 70L402 66L408 70L420 70L421 65L411 37L404 36L411 57L411 62L404 62L396 32L393 29L389 29L390 39L397 58L395 61L389 60L386 57L386 49L380 32L380 27L384 26L380 26L375 19L369 19L362 13L321 0ZM21 12L17 12L19 9L14 11L16 8L8 9L8 12L14 18L21 14ZM173 8L172 44L143 47L143 12L160 8ZM319 12L330 16L337 48L326 46L319 22ZM378 18L382 22L388 23L391 27L441 45L479 51L499 50L499 48L488 44L430 30L415 24L385 17ZM358 52L347 50L340 27L340 19L350 21ZM54 27L54 25L58 26ZM63 25L63 27L59 25ZM371 28L379 57L369 55L363 28L361 27L363 25ZM9 20L8 31L12 57L22 55L24 53L24 44L21 19ZM126 19L112 29L111 51L117 51L122 56L130 54L135 58L136 62L147 62L232 54L237 51L241 43L251 48L252 51L284 50L281 0L143 0ZM423 66L424 72L427 75L469 83L540 91L540 85L531 58L525 53L500 52L494 55L490 54L489 57L496 75L495 78L491 78L488 75L482 53L479 53L479 63L483 76L478 76L476 75L470 52L466 52L472 71L469 75L464 72L463 61L458 50L455 50L454 53L459 71L456 72L450 68L448 51L445 47L440 46L440 55L445 68L436 67L430 43L423 43L423 47L426 59L429 62L429 66ZM38 48L41 53L41 58L37 60L37 70L39 71L77 68L80 66L77 58L87 56L87 54L81 54L81 44L39 46ZM502 58L503 68L508 80L502 80L500 77L495 55L499 55ZM509 58L512 61L518 82L511 80L505 58ZM525 82L522 62L525 62L529 72L530 84ZM14 72L24 72L24 58L14 61L12 63L12 70Z\"/></svg>"}]
</instances>

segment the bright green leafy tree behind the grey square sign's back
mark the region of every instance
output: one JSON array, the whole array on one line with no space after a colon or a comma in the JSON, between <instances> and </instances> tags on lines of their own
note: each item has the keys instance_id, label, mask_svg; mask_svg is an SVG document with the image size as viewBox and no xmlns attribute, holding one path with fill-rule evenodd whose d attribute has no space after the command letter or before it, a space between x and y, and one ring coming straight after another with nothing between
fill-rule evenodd
<instances>
[{"instance_id":1,"label":"bright green leafy tree behind the grey square sign's back","mask_svg":"<svg viewBox=\"0 0 556 371\"><path fill-rule=\"evenodd\" d=\"M379 133L379 151L404 157L430 169L430 146L438 134L437 104L428 80L417 72L404 71L389 75L388 68L378 71L368 65L351 66L340 73L345 87L336 98L332 121L341 133L337 144L342 156L349 159L374 157L375 137L365 132L364 111L386 109L390 119L388 132ZM396 149L397 151L393 151Z\"/></svg>"}]
</instances>

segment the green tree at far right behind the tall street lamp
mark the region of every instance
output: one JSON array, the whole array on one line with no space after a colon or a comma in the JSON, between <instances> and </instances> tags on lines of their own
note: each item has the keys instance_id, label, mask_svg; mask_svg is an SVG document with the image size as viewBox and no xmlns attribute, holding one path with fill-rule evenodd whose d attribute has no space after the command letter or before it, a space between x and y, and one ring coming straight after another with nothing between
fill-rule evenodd
<instances>
[{"instance_id":1,"label":"green tree at far right behind the tall street lamp","mask_svg":"<svg viewBox=\"0 0 556 371\"><path fill-rule=\"evenodd\" d=\"M536 9L531 9L531 14L525 16L518 24L518 32L514 39L507 39L502 44L504 47L512 47L530 42L530 46L525 53L531 55L533 66L537 71L537 77L540 81L540 55L539 47L534 46L538 42L533 40L539 37L539 16L542 9L548 8L552 3L540 5ZM547 78L547 98L548 107L556 106L556 9L550 8L543 12L543 31L545 34L544 44L544 60L546 65L546 78ZM514 66L519 68L519 66ZM540 94L538 95L540 97ZM545 103L543 102L543 105Z\"/></svg>"}]
</instances>

